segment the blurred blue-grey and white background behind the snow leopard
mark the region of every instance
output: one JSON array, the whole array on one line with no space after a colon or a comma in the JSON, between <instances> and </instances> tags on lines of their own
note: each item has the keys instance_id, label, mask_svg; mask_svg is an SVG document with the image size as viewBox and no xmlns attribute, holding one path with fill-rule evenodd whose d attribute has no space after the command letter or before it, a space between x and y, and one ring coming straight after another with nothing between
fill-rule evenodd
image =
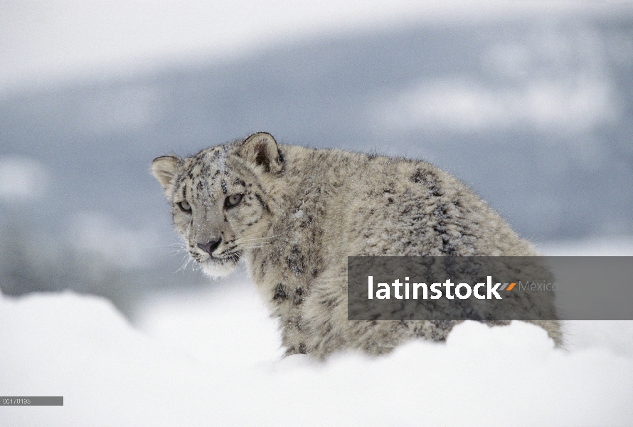
<instances>
[{"instance_id":1,"label":"blurred blue-grey and white background behind the snow leopard","mask_svg":"<svg viewBox=\"0 0 633 427\"><path fill-rule=\"evenodd\" d=\"M633 6L0 1L1 291L133 319L229 285L183 268L149 165L260 130L427 159L538 247L607 254L633 242Z\"/></svg>"}]
</instances>

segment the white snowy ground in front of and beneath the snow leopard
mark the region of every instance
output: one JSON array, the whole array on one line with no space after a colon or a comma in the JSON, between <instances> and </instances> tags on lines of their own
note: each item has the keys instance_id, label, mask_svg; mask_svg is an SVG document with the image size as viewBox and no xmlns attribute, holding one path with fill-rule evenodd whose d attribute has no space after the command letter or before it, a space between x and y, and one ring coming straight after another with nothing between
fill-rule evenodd
<instances>
[{"instance_id":1,"label":"white snowy ground in front of and beneath the snow leopard","mask_svg":"<svg viewBox=\"0 0 633 427\"><path fill-rule=\"evenodd\" d=\"M275 325L237 274L161 295L137 323L97 297L0 297L0 394L64 396L1 408L2 425L633 424L633 322L570 322L565 351L533 325L466 322L446 344L317 364L281 358Z\"/></svg>"}]
</instances>

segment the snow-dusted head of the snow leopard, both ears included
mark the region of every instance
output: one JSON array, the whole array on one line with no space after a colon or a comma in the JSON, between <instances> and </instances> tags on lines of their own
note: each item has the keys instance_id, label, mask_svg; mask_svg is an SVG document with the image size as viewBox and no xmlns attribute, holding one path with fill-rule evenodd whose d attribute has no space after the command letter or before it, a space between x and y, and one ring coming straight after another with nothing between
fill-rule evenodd
<instances>
[{"instance_id":1,"label":"snow-dusted head of the snow leopard, both ears included","mask_svg":"<svg viewBox=\"0 0 633 427\"><path fill-rule=\"evenodd\" d=\"M283 169L277 142L263 132L151 164L188 254L213 277L230 273L246 251L261 246L275 205L270 189Z\"/></svg>"}]
</instances>

